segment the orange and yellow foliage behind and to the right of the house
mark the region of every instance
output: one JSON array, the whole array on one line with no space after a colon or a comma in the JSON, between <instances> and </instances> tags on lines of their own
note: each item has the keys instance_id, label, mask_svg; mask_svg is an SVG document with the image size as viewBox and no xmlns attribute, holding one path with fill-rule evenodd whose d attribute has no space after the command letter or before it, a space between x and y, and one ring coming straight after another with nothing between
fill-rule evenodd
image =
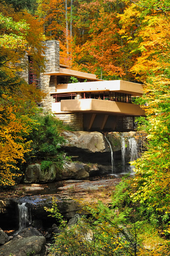
<instances>
[{"instance_id":1,"label":"orange and yellow foliage behind and to the right of the house","mask_svg":"<svg viewBox=\"0 0 170 256\"><path fill-rule=\"evenodd\" d=\"M138 103L147 116L142 128L148 133L148 145L133 163L136 175L130 196L141 215L159 227L161 235L169 236L170 1L75 0L72 13L71 1L67 1L67 20L64 3L39 5L44 13L48 8L48 15L43 16L45 34L49 36L50 31L50 38L60 41L63 63L94 72L98 78L143 84L144 95ZM54 21L58 25L52 26Z\"/></svg>"}]
</instances>

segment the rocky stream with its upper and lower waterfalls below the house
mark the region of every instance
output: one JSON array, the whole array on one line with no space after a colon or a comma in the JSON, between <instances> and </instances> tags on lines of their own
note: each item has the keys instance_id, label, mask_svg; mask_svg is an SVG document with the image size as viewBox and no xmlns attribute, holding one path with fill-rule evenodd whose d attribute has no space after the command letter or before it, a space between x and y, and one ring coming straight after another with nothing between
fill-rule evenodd
<instances>
[{"instance_id":1,"label":"rocky stream with its upper and lower waterfalls below the house","mask_svg":"<svg viewBox=\"0 0 170 256\"><path fill-rule=\"evenodd\" d=\"M74 199L94 201L100 191L113 190L113 187L121 181L122 175L127 173L134 175L133 166L130 166L129 161L139 157L139 142L133 137L125 138L122 133L119 153L121 160L118 160L116 152L112 149L112 141L108 137L105 139L111 149L111 162L106 172L103 172L105 174L83 180L72 179L48 184L18 184L17 191L20 196L11 198L9 205L6 203L7 206L1 210L0 227L14 230L15 233L30 225L41 230L48 230L56 221L48 217L44 207L52 207L53 198L57 200L60 213L69 220L82 208L81 204ZM106 200L107 196L104 195L103 198Z\"/></svg>"}]
</instances>

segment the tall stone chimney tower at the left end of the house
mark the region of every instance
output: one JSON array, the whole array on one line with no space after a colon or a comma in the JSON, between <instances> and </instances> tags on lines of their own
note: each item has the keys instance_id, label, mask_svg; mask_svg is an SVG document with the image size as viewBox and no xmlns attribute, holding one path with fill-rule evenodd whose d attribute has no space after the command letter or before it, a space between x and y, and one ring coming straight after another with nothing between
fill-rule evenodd
<instances>
[{"instance_id":1,"label":"tall stone chimney tower at the left end of the house","mask_svg":"<svg viewBox=\"0 0 170 256\"><path fill-rule=\"evenodd\" d=\"M59 71L59 42L56 40L49 40L44 42L45 49L45 73ZM49 75L40 75L40 89L46 93L45 98L42 100L41 105L46 110L51 110L51 103L53 97L49 92L56 92L57 77Z\"/></svg>"}]
</instances>

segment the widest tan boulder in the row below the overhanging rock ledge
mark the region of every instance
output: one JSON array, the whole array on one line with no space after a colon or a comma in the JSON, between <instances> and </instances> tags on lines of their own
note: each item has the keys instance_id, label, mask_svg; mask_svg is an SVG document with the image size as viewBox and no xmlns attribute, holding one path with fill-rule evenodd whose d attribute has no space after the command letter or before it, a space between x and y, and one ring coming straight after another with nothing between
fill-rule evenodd
<instances>
[{"instance_id":1,"label":"widest tan boulder in the row below the overhanging rock ledge","mask_svg":"<svg viewBox=\"0 0 170 256\"><path fill-rule=\"evenodd\" d=\"M89 173L85 170L82 163L65 162L65 171L62 173L62 178L82 179L88 178Z\"/></svg>"}]
</instances>

